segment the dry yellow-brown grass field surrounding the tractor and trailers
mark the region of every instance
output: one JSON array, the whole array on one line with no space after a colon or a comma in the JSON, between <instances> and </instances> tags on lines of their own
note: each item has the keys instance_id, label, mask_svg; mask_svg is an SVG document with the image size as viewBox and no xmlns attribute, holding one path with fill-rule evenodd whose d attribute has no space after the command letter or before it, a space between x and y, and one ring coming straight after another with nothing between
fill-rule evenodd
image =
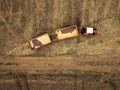
<instances>
[{"instance_id":1,"label":"dry yellow-brown grass field surrounding the tractor and trailers","mask_svg":"<svg viewBox=\"0 0 120 90\"><path fill-rule=\"evenodd\" d=\"M118 0L1 0L0 54L55 56L118 51L119 10ZM100 35L55 42L37 51L30 51L26 44L43 32L74 24L79 28L95 26Z\"/></svg>"}]
</instances>

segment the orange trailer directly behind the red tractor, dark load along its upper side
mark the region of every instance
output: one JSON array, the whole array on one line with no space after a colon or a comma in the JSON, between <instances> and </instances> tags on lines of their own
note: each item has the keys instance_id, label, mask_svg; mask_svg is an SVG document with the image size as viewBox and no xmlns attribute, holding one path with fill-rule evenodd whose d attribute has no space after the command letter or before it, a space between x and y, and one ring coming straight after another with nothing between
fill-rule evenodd
<instances>
[{"instance_id":1,"label":"orange trailer directly behind the red tractor, dark load along its upper side","mask_svg":"<svg viewBox=\"0 0 120 90\"><path fill-rule=\"evenodd\" d=\"M55 30L57 40L63 40L71 37L79 36L76 25Z\"/></svg>"}]
</instances>

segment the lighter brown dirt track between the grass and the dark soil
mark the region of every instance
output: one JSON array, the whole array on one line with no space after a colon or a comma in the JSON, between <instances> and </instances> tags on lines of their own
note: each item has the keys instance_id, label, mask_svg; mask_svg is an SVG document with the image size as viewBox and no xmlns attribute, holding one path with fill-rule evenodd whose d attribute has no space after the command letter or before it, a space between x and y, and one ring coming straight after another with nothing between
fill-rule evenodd
<instances>
[{"instance_id":1,"label":"lighter brown dirt track between the grass and the dark soil","mask_svg":"<svg viewBox=\"0 0 120 90\"><path fill-rule=\"evenodd\" d=\"M120 71L120 58L94 58L94 57L20 57L20 58L1 58L0 70L83 70L111 72Z\"/></svg>"}]
</instances>

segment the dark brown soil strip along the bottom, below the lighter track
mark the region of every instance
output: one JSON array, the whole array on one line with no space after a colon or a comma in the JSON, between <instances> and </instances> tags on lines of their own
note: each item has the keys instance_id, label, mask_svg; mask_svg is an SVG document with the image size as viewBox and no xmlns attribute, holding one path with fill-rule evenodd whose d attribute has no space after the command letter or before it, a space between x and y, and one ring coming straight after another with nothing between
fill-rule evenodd
<instances>
[{"instance_id":1,"label":"dark brown soil strip along the bottom, below the lighter track","mask_svg":"<svg viewBox=\"0 0 120 90\"><path fill-rule=\"evenodd\" d=\"M0 90L120 90L119 85L120 72L39 71L0 76Z\"/></svg>"}]
</instances>

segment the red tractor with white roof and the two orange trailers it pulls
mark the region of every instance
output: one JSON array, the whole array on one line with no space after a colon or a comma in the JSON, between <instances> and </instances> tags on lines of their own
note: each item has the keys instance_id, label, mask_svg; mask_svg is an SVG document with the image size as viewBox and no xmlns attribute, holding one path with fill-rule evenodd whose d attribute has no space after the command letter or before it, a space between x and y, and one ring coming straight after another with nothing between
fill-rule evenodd
<instances>
[{"instance_id":1,"label":"red tractor with white roof and the two orange trailers it pulls","mask_svg":"<svg viewBox=\"0 0 120 90\"><path fill-rule=\"evenodd\" d=\"M72 37L77 37L80 35L80 33L83 34L84 36L98 35L99 30L94 27L84 26L81 32L79 32L77 25L73 25L54 30L53 34L51 35L45 33L36 38L33 38L29 40L29 45L31 49L38 49L54 41L60 41Z\"/></svg>"}]
</instances>

